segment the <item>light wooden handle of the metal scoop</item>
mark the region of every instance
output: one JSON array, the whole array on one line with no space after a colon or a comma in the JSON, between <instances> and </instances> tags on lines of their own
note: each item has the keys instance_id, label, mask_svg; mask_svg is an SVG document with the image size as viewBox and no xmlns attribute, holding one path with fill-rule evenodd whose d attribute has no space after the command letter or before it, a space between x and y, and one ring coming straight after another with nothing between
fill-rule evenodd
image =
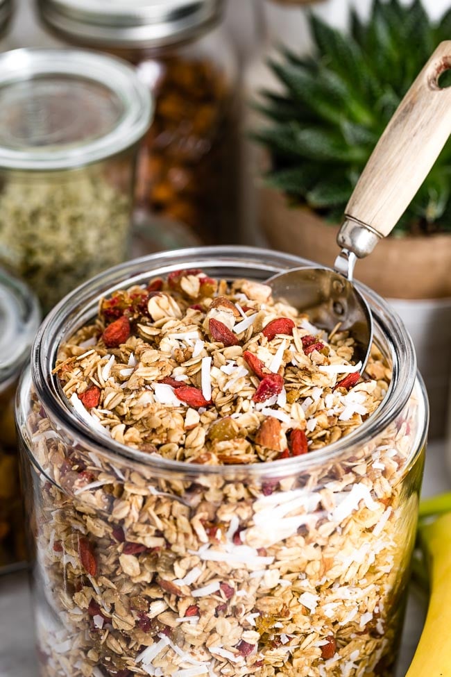
<instances>
[{"instance_id":1,"label":"light wooden handle of the metal scoop","mask_svg":"<svg viewBox=\"0 0 451 677\"><path fill-rule=\"evenodd\" d=\"M451 40L441 42L402 99L346 206L345 215L389 235L434 165L451 133L451 87L438 79L451 68Z\"/></svg>"}]
</instances>

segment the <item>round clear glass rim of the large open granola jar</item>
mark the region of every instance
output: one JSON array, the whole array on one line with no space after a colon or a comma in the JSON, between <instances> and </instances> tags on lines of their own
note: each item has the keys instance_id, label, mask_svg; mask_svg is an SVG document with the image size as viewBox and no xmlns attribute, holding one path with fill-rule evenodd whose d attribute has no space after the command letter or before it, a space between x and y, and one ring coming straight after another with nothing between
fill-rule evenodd
<instances>
[{"instance_id":1,"label":"round clear glass rim of the large open granola jar","mask_svg":"<svg viewBox=\"0 0 451 677\"><path fill-rule=\"evenodd\" d=\"M264 281L275 272L312 265L315 264L311 261L268 249L212 246L160 252L111 268L65 296L42 323L33 344L31 360L32 379L37 396L50 419L74 437L77 444L85 446L90 451L116 460L119 458L135 460L157 472L196 475L200 468L196 464L148 455L109 437L107 441L105 436L87 426L71 409L60 387L58 376L52 374L58 347L62 341L94 317L101 297L108 296L117 289L146 283L149 277L166 276L180 268L194 267L202 268L210 276L249 277ZM271 477L281 477L287 474L287 471L290 473L305 471L312 465L338 460L351 445L368 443L400 415L411 396L417 378L416 356L411 337L398 315L380 296L361 283L356 285L373 312L375 336L379 334L388 343L387 356L391 360L391 385L377 410L355 431L311 454L246 466L203 465L201 467L203 474L259 478L267 474L271 474ZM425 415L427 416L427 411Z\"/></svg>"}]
</instances>

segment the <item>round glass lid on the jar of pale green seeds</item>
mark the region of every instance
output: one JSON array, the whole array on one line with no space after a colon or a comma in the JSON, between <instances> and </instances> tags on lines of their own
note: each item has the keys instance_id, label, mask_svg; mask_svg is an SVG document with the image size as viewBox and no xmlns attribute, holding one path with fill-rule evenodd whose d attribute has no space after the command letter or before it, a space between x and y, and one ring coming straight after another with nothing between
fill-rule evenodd
<instances>
[{"instance_id":1,"label":"round glass lid on the jar of pale green seeds","mask_svg":"<svg viewBox=\"0 0 451 677\"><path fill-rule=\"evenodd\" d=\"M151 95L125 61L83 49L0 55L0 167L71 169L132 146Z\"/></svg>"}]
</instances>

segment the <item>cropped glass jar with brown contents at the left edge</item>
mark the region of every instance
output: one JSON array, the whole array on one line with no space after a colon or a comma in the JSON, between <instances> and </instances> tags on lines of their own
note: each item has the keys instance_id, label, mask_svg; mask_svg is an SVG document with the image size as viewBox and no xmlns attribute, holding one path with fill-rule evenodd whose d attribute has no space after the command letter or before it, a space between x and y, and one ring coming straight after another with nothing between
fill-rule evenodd
<instances>
[{"instance_id":1,"label":"cropped glass jar with brown contents at the left edge","mask_svg":"<svg viewBox=\"0 0 451 677\"><path fill-rule=\"evenodd\" d=\"M0 268L0 573L26 559L14 397L39 321L35 296Z\"/></svg>"}]
</instances>

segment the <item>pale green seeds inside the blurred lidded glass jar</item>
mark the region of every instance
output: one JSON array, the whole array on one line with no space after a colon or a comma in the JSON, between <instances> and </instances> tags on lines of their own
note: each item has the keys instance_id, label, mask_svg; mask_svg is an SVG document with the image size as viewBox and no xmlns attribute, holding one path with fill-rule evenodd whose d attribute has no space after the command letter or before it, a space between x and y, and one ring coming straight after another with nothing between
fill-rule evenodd
<instances>
[{"instance_id":1,"label":"pale green seeds inside the blurred lidded glass jar","mask_svg":"<svg viewBox=\"0 0 451 677\"><path fill-rule=\"evenodd\" d=\"M44 312L127 254L130 199L99 173L23 174L0 192L0 264Z\"/></svg>"}]
</instances>

